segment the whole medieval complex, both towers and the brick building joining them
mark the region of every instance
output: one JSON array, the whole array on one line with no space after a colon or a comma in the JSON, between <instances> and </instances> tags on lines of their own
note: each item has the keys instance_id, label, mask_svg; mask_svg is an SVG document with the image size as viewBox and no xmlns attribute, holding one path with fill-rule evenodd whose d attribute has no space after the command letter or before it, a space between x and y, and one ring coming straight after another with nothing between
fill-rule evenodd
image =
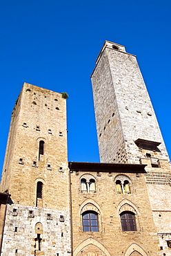
<instances>
[{"instance_id":1,"label":"whole medieval complex, both towers and the brick building joining them","mask_svg":"<svg viewBox=\"0 0 171 256\"><path fill-rule=\"evenodd\" d=\"M136 57L106 41L91 78L101 163L68 163L66 99L23 84L1 179L2 256L171 255L170 162Z\"/></svg>"}]
</instances>

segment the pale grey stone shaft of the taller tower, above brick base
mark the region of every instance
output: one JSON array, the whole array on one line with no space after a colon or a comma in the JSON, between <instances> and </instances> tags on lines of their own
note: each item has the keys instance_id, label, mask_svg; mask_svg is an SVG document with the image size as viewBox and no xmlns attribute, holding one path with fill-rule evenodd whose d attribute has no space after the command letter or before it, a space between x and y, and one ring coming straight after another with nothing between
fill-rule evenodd
<instances>
[{"instance_id":1,"label":"pale grey stone shaft of the taller tower, above brick base","mask_svg":"<svg viewBox=\"0 0 171 256\"><path fill-rule=\"evenodd\" d=\"M136 57L105 42L92 73L101 162L139 163L138 138L161 143L153 155L168 159Z\"/></svg>"}]
</instances>

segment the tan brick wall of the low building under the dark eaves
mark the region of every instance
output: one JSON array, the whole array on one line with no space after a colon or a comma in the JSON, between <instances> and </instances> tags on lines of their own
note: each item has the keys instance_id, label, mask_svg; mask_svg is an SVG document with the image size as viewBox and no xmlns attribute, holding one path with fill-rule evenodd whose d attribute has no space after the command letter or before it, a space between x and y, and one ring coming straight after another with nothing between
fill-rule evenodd
<instances>
[{"instance_id":1,"label":"tan brick wall of the low building under the dark eaves","mask_svg":"<svg viewBox=\"0 0 171 256\"><path fill-rule=\"evenodd\" d=\"M100 174L97 176L95 170L70 174L74 256L89 255L91 252L95 255L125 255L133 242L143 248L146 255L156 256L159 241L143 175L137 177L135 173L109 174L103 171ZM81 178L86 175L91 175L96 181L96 192L81 192ZM131 181L131 194L117 194L115 181L119 175ZM86 210L98 212L99 232L83 232L81 216ZM122 231L119 214L125 210L135 213L137 231Z\"/></svg>"}]
</instances>

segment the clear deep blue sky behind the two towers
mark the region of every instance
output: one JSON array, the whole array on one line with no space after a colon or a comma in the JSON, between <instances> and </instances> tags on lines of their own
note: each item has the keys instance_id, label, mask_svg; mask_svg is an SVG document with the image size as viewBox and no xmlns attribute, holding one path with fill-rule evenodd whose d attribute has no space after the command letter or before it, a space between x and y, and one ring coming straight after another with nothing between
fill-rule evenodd
<instances>
[{"instance_id":1,"label":"clear deep blue sky behind the two towers","mask_svg":"<svg viewBox=\"0 0 171 256\"><path fill-rule=\"evenodd\" d=\"M170 10L169 0L0 1L1 167L23 82L70 95L68 161L99 161L90 75L105 40L137 55L171 154Z\"/></svg>"}]
</instances>

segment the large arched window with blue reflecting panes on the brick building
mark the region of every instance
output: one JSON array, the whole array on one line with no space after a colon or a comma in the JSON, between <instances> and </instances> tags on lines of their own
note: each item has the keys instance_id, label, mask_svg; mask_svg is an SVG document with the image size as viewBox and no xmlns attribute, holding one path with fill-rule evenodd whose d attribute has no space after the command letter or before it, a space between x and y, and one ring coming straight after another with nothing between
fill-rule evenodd
<instances>
[{"instance_id":1,"label":"large arched window with blue reflecting panes on the brick building","mask_svg":"<svg viewBox=\"0 0 171 256\"><path fill-rule=\"evenodd\" d=\"M83 212L83 231L84 232L98 232L98 214L97 212L86 211Z\"/></svg>"}]
</instances>

